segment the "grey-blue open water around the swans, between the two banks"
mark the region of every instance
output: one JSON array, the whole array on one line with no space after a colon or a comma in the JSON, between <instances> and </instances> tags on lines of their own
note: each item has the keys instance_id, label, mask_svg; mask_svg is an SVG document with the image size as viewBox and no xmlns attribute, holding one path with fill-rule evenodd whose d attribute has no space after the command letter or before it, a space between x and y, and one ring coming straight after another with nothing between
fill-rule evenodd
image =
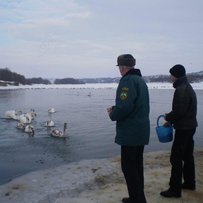
<instances>
[{"instance_id":1,"label":"grey-blue open water around the swans, between the two banks","mask_svg":"<svg viewBox=\"0 0 203 203\"><path fill-rule=\"evenodd\" d=\"M107 158L120 154L114 143L115 123L106 108L114 104L115 89L21 89L0 90L0 184L30 171L58 166L82 159ZM91 96L88 94L91 92ZM161 144L155 134L156 118L171 108L173 90L150 90L151 138L145 151L167 150L171 143ZM203 147L203 90L198 97L196 146ZM51 118L56 128L68 124L68 138L50 137L44 124ZM7 110L28 112L35 109L35 136L17 129L16 121L4 118Z\"/></svg>"}]
</instances>

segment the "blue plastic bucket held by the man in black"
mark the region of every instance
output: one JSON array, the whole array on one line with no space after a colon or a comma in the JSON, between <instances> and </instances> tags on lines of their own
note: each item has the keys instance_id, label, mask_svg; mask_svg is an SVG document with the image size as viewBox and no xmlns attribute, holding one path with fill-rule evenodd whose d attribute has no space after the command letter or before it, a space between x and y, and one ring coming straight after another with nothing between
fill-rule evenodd
<instances>
[{"instance_id":1,"label":"blue plastic bucket held by the man in black","mask_svg":"<svg viewBox=\"0 0 203 203\"><path fill-rule=\"evenodd\" d=\"M157 118L157 127L156 127L156 133L159 139L159 142L170 142L173 140L173 126L169 123L169 126L160 126L159 120L160 118L164 118L164 115L160 115Z\"/></svg>"}]
</instances>

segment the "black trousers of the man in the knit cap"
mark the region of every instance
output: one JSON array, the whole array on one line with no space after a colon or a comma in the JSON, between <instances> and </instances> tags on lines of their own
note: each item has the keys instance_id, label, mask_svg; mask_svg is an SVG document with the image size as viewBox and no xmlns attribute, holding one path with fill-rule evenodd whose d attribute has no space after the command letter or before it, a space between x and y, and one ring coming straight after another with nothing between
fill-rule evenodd
<instances>
[{"instance_id":1,"label":"black trousers of the man in the knit cap","mask_svg":"<svg viewBox=\"0 0 203 203\"><path fill-rule=\"evenodd\" d=\"M196 129L176 130L171 149L170 188L181 193L182 178L187 185L195 186L194 140Z\"/></svg>"}]
</instances>

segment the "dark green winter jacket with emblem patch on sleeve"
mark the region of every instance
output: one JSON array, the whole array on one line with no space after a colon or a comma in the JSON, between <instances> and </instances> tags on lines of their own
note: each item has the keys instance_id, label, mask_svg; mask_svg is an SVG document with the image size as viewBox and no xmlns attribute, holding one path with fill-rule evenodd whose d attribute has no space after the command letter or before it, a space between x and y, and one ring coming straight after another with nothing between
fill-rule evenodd
<instances>
[{"instance_id":1,"label":"dark green winter jacket with emblem patch on sleeve","mask_svg":"<svg viewBox=\"0 0 203 203\"><path fill-rule=\"evenodd\" d=\"M139 69L132 69L121 78L110 118L116 121L117 144L141 146L149 143L149 93Z\"/></svg>"}]
</instances>

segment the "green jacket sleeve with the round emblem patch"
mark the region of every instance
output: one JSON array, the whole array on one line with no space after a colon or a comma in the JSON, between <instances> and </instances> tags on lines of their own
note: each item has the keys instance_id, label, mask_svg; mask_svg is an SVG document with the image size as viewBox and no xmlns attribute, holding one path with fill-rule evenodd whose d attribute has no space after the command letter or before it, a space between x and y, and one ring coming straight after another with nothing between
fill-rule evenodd
<instances>
[{"instance_id":1,"label":"green jacket sleeve with the round emblem patch","mask_svg":"<svg viewBox=\"0 0 203 203\"><path fill-rule=\"evenodd\" d=\"M125 119L134 109L137 91L133 81L122 81L116 94L116 105L113 106L110 118L112 121Z\"/></svg>"}]
</instances>

